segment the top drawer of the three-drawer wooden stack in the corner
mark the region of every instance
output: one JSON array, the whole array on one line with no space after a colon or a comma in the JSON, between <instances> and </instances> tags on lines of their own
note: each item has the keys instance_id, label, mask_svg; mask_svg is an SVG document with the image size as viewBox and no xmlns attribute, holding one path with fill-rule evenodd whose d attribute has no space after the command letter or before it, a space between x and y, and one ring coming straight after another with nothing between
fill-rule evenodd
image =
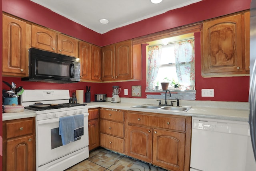
<instances>
[{"instance_id":1,"label":"top drawer of the three-drawer wooden stack in the corner","mask_svg":"<svg viewBox=\"0 0 256 171\"><path fill-rule=\"evenodd\" d=\"M124 122L124 112L108 109L100 109L100 118L113 120L117 122Z\"/></svg>"}]
</instances>

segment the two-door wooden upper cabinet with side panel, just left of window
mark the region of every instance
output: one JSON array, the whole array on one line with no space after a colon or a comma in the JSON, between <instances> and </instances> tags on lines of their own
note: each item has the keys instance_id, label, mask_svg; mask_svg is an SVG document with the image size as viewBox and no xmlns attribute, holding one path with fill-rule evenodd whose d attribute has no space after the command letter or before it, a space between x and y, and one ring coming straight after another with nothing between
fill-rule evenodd
<instances>
[{"instance_id":1,"label":"two-door wooden upper cabinet with side panel, just left of window","mask_svg":"<svg viewBox=\"0 0 256 171\"><path fill-rule=\"evenodd\" d=\"M141 80L141 44L132 40L102 47L102 81Z\"/></svg>"}]
</instances>

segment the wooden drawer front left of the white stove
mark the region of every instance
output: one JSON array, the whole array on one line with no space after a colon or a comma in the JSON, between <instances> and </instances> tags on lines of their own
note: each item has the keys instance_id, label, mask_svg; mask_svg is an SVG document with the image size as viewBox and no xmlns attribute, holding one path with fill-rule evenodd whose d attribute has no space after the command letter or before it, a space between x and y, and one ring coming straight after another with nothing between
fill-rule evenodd
<instances>
[{"instance_id":1,"label":"wooden drawer front left of the white stove","mask_svg":"<svg viewBox=\"0 0 256 171\"><path fill-rule=\"evenodd\" d=\"M6 123L6 138L32 134L33 120Z\"/></svg>"}]
</instances>

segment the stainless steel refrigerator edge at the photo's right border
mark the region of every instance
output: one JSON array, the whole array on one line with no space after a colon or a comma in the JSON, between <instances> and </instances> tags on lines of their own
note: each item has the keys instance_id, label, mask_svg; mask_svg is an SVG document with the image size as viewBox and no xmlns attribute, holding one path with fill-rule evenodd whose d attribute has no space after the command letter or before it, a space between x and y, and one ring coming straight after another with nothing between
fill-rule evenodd
<instances>
[{"instance_id":1,"label":"stainless steel refrigerator edge at the photo's right border","mask_svg":"<svg viewBox=\"0 0 256 171\"><path fill-rule=\"evenodd\" d=\"M256 160L256 0L250 6L250 134Z\"/></svg>"}]
</instances>

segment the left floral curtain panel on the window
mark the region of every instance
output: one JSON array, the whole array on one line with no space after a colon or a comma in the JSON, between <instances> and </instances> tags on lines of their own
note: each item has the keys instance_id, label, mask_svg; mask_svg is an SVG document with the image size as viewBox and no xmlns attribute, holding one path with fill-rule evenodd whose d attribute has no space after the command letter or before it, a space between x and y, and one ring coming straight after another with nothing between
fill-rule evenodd
<instances>
[{"instance_id":1,"label":"left floral curtain panel on the window","mask_svg":"<svg viewBox=\"0 0 256 171\"><path fill-rule=\"evenodd\" d=\"M156 79L160 66L162 45L148 47L148 79L146 90L154 90L154 81Z\"/></svg>"}]
</instances>

